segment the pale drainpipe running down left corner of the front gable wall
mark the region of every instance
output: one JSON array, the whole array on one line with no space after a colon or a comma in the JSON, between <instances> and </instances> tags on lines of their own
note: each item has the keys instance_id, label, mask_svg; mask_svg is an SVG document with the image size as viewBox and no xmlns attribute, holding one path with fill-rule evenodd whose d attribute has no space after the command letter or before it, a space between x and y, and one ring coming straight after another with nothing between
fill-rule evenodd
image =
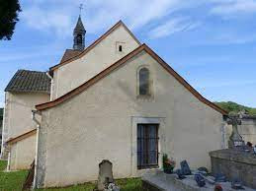
<instances>
[{"instance_id":1,"label":"pale drainpipe running down left corner of the front gable wall","mask_svg":"<svg viewBox=\"0 0 256 191\"><path fill-rule=\"evenodd\" d=\"M37 123L37 140L36 140L36 154L35 154L35 173L33 180L33 189L37 187L37 176L38 176L38 152L39 152L39 136L40 136L40 127L41 123L36 118L36 114L41 115L41 112L38 110L32 110L32 119Z\"/></svg>"}]
</instances>

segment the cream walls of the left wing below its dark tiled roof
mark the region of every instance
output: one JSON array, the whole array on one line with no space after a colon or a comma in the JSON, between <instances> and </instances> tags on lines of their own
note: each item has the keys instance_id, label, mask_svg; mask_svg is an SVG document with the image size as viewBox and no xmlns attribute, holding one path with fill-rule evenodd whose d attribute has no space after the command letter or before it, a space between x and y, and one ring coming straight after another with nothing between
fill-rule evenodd
<instances>
[{"instance_id":1,"label":"cream walls of the left wing below its dark tiled roof","mask_svg":"<svg viewBox=\"0 0 256 191\"><path fill-rule=\"evenodd\" d=\"M16 138L36 128L32 120L32 110L36 109L35 105L49 100L49 95L38 93L9 93L5 94L4 121L3 121L3 139L1 158L7 159L8 153L6 142L9 139ZM17 146L16 146L17 145ZM24 146L24 147L23 147ZM10 147L12 162L11 169L28 168L35 159L35 139L23 141ZM17 158L16 158L17 157Z\"/></svg>"}]
</instances>

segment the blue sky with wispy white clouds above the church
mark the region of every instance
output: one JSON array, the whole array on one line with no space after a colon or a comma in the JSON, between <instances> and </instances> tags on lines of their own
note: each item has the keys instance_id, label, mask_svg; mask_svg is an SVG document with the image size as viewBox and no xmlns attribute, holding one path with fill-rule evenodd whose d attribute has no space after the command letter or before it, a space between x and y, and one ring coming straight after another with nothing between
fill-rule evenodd
<instances>
[{"instance_id":1,"label":"blue sky with wispy white clouds above the church","mask_svg":"<svg viewBox=\"0 0 256 191\"><path fill-rule=\"evenodd\" d=\"M256 107L256 0L21 0L12 40L0 41L0 106L18 69L46 71L72 47L82 20L89 45L123 20L210 100Z\"/></svg>"}]
</instances>

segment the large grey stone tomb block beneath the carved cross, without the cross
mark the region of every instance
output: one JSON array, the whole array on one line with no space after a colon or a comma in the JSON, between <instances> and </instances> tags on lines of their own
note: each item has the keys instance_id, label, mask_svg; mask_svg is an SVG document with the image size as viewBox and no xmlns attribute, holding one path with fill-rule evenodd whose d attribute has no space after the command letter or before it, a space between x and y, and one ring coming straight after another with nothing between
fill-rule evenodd
<instances>
[{"instance_id":1,"label":"large grey stone tomb block beneath the carved cross, without the cross","mask_svg":"<svg viewBox=\"0 0 256 191\"><path fill-rule=\"evenodd\" d=\"M225 174L231 181L242 180L244 185L256 189L256 156L235 150L218 150L210 153L213 175Z\"/></svg>"}]
</instances>

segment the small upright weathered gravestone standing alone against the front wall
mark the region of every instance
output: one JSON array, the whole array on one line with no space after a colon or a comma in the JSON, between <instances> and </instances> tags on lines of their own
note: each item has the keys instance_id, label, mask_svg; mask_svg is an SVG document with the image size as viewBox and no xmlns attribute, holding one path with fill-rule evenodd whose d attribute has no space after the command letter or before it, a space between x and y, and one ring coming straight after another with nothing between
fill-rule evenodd
<instances>
[{"instance_id":1,"label":"small upright weathered gravestone standing alone against the front wall","mask_svg":"<svg viewBox=\"0 0 256 191\"><path fill-rule=\"evenodd\" d=\"M98 190L104 190L106 186L114 182L112 162L110 160L104 159L99 164L99 176L97 188Z\"/></svg>"}]
</instances>

